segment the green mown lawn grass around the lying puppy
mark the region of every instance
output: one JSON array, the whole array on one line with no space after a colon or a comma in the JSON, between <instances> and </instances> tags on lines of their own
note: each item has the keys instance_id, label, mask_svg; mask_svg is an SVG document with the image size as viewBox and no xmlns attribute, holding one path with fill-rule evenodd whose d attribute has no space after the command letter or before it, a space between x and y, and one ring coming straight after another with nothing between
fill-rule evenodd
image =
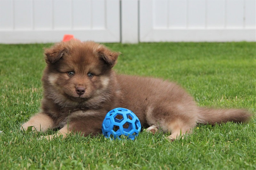
<instances>
[{"instance_id":1,"label":"green mown lawn grass around the lying puppy","mask_svg":"<svg viewBox=\"0 0 256 170\"><path fill-rule=\"evenodd\" d=\"M0 169L256 169L255 116L248 124L198 125L172 143L161 132L142 131L134 141L47 141L21 132L40 108L43 48L50 45L0 45ZM176 81L200 106L256 113L255 42L106 45L123 53L118 73Z\"/></svg>"}]
</instances>

